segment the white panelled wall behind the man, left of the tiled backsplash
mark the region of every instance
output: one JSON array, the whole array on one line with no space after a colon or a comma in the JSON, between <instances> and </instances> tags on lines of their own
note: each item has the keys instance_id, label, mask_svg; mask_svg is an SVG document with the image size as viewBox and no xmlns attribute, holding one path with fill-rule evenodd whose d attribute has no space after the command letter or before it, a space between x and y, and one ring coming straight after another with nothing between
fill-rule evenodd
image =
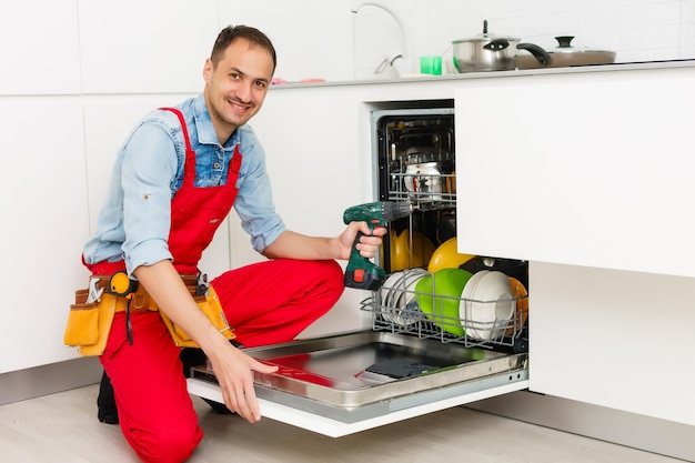
<instances>
[{"instance_id":1,"label":"white panelled wall behind the man, left of the tiled backsplash","mask_svg":"<svg viewBox=\"0 0 695 463\"><path fill-rule=\"evenodd\" d=\"M63 328L115 152L148 111L202 90L222 27L269 33L279 77L352 79L348 0L292 4L0 0L0 374L78 356ZM203 255L211 274L230 265L229 235Z\"/></svg>"}]
</instances>

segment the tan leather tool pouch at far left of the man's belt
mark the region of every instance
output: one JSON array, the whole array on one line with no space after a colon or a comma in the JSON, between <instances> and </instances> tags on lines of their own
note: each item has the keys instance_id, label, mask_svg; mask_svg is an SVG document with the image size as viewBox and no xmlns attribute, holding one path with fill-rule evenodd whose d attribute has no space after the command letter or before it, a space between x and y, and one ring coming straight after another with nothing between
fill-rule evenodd
<instances>
[{"instance_id":1,"label":"tan leather tool pouch at far left of the man's belt","mask_svg":"<svg viewBox=\"0 0 695 463\"><path fill-rule=\"evenodd\" d=\"M125 310L124 298L102 294L99 301L87 302L89 290L74 292L74 304L70 305L68 324L63 335L67 345L77 346L85 356L101 355L107 346L113 315L119 309Z\"/></svg>"}]
</instances>

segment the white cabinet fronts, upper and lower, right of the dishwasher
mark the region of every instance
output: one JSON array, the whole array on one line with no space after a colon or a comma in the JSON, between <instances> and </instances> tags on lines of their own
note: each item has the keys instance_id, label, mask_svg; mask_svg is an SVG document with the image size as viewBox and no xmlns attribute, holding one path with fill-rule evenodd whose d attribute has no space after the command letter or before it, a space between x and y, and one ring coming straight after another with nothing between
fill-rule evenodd
<instances>
[{"instance_id":1,"label":"white cabinet fronts, upper and lower, right of the dishwasher","mask_svg":"<svg viewBox=\"0 0 695 463\"><path fill-rule=\"evenodd\" d=\"M530 262L530 389L689 425L695 68L456 91L460 250Z\"/></svg>"}]
</instances>

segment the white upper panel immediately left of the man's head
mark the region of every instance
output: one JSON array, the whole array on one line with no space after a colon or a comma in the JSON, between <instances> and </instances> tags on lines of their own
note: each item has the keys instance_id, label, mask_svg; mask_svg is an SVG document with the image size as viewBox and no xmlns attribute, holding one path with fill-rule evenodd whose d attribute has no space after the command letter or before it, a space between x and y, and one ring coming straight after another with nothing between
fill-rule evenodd
<instances>
[{"instance_id":1,"label":"white upper panel immediately left of the man's head","mask_svg":"<svg viewBox=\"0 0 695 463\"><path fill-rule=\"evenodd\" d=\"M218 0L78 0L84 93L201 91Z\"/></svg>"}]
</instances>

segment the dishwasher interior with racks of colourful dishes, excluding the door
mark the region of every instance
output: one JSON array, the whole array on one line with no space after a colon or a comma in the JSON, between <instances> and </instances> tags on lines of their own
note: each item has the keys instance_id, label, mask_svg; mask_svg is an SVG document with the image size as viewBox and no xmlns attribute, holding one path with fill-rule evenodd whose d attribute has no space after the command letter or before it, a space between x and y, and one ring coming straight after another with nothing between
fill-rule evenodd
<instances>
[{"instance_id":1,"label":"dishwasher interior with racks of colourful dishes, excluding the door","mask_svg":"<svg viewBox=\"0 0 695 463\"><path fill-rule=\"evenodd\" d=\"M466 175L456 173L453 109L377 111L372 123L379 200L413 204L390 223L380 255L389 278L362 303L373 329L527 352L527 262L457 251Z\"/></svg>"}]
</instances>

